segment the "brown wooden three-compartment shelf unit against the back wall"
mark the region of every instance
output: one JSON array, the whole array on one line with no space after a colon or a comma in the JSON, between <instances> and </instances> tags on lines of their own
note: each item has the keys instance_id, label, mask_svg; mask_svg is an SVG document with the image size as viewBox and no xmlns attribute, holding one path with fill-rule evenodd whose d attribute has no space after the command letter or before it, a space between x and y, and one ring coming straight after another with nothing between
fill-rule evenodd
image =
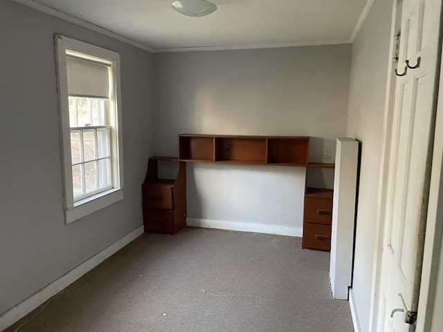
<instances>
[{"instance_id":1,"label":"brown wooden three-compartment shelf unit against the back wall","mask_svg":"<svg viewBox=\"0 0 443 332\"><path fill-rule=\"evenodd\" d=\"M307 167L307 136L179 135L179 159L196 163Z\"/></svg>"}]
</instances>

